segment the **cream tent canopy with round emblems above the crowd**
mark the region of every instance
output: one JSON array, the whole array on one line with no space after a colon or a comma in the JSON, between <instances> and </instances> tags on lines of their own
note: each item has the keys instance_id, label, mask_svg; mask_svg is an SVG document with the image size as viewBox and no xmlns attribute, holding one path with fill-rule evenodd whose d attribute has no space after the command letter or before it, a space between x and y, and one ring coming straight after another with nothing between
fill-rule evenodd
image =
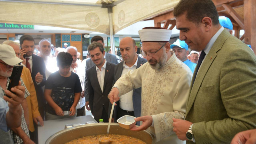
<instances>
[{"instance_id":1,"label":"cream tent canopy with round emblems above the crowd","mask_svg":"<svg viewBox=\"0 0 256 144\"><path fill-rule=\"evenodd\" d=\"M0 0L0 22L73 28L110 35L108 8L102 8L102 2L117 4L113 7L115 34L133 23L172 10L179 0Z\"/></svg>"}]
</instances>

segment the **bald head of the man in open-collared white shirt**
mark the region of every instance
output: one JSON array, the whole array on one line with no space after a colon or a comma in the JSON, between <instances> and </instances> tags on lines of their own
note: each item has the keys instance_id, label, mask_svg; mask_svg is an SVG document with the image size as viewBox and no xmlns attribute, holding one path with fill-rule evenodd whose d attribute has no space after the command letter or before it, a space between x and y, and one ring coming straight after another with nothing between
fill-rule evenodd
<instances>
[{"instance_id":1,"label":"bald head of the man in open-collared white shirt","mask_svg":"<svg viewBox=\"0 0 256 144\"><path fill-rule=\"evenodd\" d=\"M119 44L120 52L126 65L133 65L137 60L137 46L131 37L124 37Z\"/></svg>"}]
</instances>

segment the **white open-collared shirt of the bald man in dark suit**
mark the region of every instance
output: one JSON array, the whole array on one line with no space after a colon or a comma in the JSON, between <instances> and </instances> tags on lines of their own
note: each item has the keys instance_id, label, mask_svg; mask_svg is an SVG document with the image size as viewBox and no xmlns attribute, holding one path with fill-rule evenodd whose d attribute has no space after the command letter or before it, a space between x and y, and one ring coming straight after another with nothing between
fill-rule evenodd
<instances>
[{"instance_id":1,"label":"white open-collared shirt of the bald man in dark suit","mask_svg":"<svg viewBox=\"0 0 256 144\"><path fill-rule=\"evenodd\" d=\"M136 62L131 67L128 67L124 61L124 66L123 66L124 68L122 71L122 76L130 70L133 70L133 71L136 70L137 63L138 63L138 55L137 55ZM133 91L130 91L130 92L125 93L124 95L120 96L120 100L119 100L120 108L122 108L124 110L128 110L128 111L133 111L132 95L133 95Z\"/></svg>"}]
</instances>

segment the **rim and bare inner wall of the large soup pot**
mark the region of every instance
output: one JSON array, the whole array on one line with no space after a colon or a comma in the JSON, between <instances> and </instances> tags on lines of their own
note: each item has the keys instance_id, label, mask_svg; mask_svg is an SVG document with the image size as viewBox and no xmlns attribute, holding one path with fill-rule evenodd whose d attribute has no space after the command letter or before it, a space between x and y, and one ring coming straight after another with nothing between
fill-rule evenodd
<instances>
[{"instance_id":1,"label":"rim and bare inner wall of the large soup pot","mask_svg":"<svg viewBox=\"0 0 256 144\"><path fill-rule=\"evenodd\" d=\"M75 140L83 136L106 134L107 128L108 123L85 124L81 126L68 128L53 134L50 138L46 140L45 144L64 144L68 141ZM148 130L133 132L121 128L117 123L111 123L109 134L120 134L135 137L137 139L143 140L147 144L156 143L156 136L152 132Z\"/></svg>"}]
</instances>

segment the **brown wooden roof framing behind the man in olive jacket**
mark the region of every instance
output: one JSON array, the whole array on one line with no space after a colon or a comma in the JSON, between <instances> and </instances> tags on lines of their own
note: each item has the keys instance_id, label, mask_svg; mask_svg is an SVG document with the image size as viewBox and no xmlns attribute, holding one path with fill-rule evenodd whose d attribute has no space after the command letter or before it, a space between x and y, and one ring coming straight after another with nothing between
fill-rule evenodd
<instances>
[{"instance_id":1,"label":"brown wooden roof framing behind the man in olive jacket","mask_svg":"<svg viewBox=\"0 0 256 144\"><path fill-rule=\"evenodd\" d=\"M256 0L212 0L215 4L219 16L228 17L232 24L235 36L244 40L245 44L251 44L252 50L256 55ZM176 25L176 20L173 16L172 10L159 14L147 20L154 20L155 27L161 27L164 23L164 28L171 27L173 29ZM240 38L240 30L244 29L244 35Z\"/></svg>"}]
</instances>

